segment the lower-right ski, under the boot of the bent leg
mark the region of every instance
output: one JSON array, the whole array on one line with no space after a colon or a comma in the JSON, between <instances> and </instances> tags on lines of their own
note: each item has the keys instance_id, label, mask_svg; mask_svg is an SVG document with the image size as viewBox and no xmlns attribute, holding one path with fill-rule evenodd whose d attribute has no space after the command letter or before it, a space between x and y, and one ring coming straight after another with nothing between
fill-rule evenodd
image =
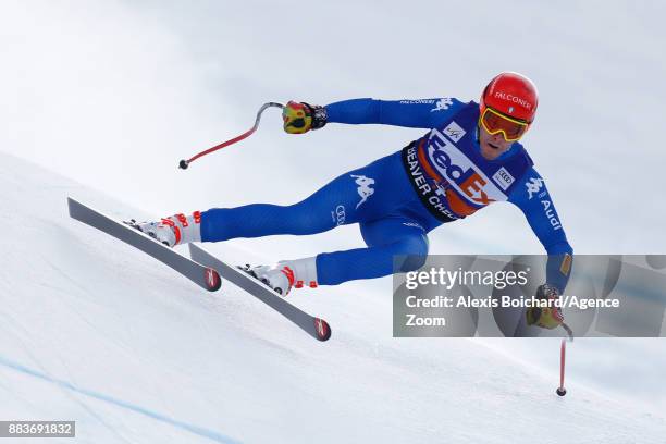
<instances>
[{"instance_id":1,"label":"lower-right ski, under the boot of the bent leg","mask_svg":"<svg viewBox=\"0 0 666 444\"><path fill-rule=\"evenodd\" d=\"M222 278L255 296L316 340L328 341L329 337L331 337L331 326L326 321L310 316L287 303L280 294L251 278L246 272L223 262L194 244L189 244L189 255L197 262L217 270Z\"/></svg>"}]
</instances>

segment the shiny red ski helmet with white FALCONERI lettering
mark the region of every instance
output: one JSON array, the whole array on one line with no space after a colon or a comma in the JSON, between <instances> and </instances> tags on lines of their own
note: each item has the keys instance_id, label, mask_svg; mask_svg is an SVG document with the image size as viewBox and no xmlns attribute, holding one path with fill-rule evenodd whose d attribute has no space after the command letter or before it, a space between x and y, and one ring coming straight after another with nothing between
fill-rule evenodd
<instances>
[{"instance_id":1,"label":"shiny red ski helmet with white FALCONERI lettering","mask_svg":"<svg viewBox=\"0 0 666 444\"><path fill-rule=\"evenodd\" d=\"M489 107L504 115L530 124L534 121L539 107L536 86L521 74L501 73L483 89L479 104L481 115Z\"/></svg>"}]
</instances>

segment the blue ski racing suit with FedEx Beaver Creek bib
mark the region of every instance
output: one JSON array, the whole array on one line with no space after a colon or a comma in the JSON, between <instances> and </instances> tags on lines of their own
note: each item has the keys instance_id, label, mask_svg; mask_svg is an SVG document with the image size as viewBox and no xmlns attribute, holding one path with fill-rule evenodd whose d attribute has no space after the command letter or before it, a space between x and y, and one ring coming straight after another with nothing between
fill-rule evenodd
<instances>
[{"instance_id":1,"label":"blue ski racing suit with FedEx Beaver Creek bib","mask_svg":"<svg viewBox=\"0 0 666 444\"><path fill-rule=\"evenodd\" d=\"M317 256L319 284L392 274L394 257L428 254L428 233L489 203L509 201L525 213L548 254L546 281L564 291L563 260L572 249L544 180L519 143L486 160L479 146L479 104L455 98L355 99L325 107L329 123L428 130L402 150L334 178L305 200L254 203L201 213L201 239L314 234L358 223L365 248ZM422 261L404 263L399 271Z\"/></svg>"}]
</instances>

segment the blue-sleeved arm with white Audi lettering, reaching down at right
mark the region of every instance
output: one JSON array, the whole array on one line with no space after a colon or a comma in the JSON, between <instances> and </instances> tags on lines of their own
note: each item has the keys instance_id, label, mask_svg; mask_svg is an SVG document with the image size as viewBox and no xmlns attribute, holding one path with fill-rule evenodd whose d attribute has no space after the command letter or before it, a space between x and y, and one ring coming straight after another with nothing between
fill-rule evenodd
<instances>
[{"instance_id":1,"label":"blue-sleeved arm with white Audi lettering, reaching down at right","mask_svg":"<svg viewBox=\"0 0 666 444\"><path fill-rule=\"evenodd\" d=\"M569 280L574 249L567 240L545 183L533 168L521 177L509 201L520 208L548 254L546 283L562 294Z\"/></svg>"}]
</instances>

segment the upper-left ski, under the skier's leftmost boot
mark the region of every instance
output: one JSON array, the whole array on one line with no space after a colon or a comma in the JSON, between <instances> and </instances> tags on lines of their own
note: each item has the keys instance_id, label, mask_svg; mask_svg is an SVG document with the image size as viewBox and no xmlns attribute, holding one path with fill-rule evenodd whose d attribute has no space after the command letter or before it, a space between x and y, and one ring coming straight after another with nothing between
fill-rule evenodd
<instances>
[{"instance_id":1,"label":"upper-left ski, under the skier's leftmost boot","mask_svg":"<svg viewBox=\"0 0 666 444\"><path fill-rule=\"evenodd\" d=\"M160 262L171 267L203 289L214 292L220 288L222 281L220 280L220 274L218 274L214 269L203 267L165 245L160 244L158 240L155 240L140 231L109 218L92 208L86 207L71 197L67 197L67 206L70 208L71 218L138 248Z\"/></svg>"}]
</instances>

